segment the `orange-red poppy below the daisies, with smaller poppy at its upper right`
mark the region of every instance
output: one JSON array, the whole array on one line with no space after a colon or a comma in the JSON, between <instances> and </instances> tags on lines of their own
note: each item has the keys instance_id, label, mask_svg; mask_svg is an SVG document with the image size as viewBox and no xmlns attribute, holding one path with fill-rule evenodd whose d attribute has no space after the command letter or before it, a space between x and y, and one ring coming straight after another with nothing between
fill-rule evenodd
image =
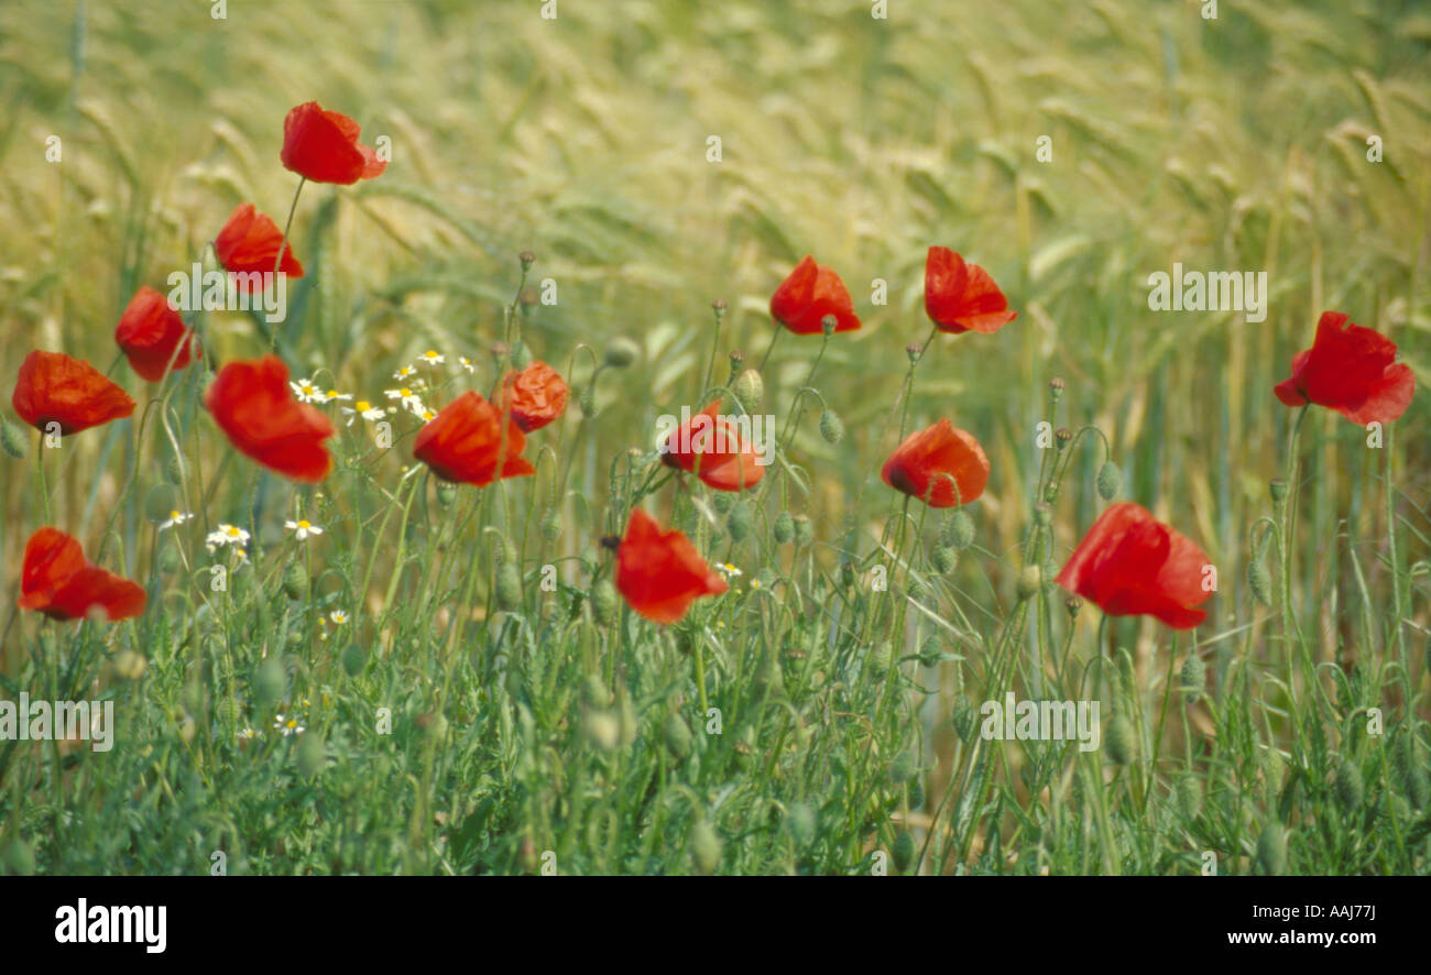
<instances>
[{"instance_id":1,"label":"orange-red poppy below the daisies, with smaller poppy at its upper right","mask_svg":"<svg viewBox=\"0 0 1431 975\"><path fill-rule=\"evenodd\" d=\"M501 477L525 477L537 469L521 456L527 437L515 422L507 423L507 449L502 455L502 412L472 390L448 403L418 430L412 456L432 467L444 480L459 480L482 488Z\"/></svg>"}]
</instances>

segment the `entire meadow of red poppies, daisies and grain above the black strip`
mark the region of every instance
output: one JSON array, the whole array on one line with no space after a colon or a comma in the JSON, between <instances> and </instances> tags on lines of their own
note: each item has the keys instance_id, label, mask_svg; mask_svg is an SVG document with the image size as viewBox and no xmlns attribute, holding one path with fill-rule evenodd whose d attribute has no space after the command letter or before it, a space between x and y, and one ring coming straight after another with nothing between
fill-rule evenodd
<instances>
[{"instance_id":1,"label":"entire meadow of red poppies, daisies and grain above the black strip","mask_svg":"<svg viewBox=\"0 0 1431 975\"><path fill-rule=\"evenodd\" d=\"M1050 6L6 4L3 871L1431 872L1431 17Z\"/></svg>"}]
</instances>

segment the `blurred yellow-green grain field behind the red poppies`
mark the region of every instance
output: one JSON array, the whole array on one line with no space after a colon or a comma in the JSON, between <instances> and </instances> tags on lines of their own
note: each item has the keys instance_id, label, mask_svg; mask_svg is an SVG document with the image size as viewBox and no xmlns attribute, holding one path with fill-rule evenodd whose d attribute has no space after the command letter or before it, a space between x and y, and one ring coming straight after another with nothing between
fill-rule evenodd
<instances>
[{"instance_id":1,"label":"blurred yellow-green grain field behind the red poppies","mask_svg":"<svg viewBox=\"0 0 1431 975\"><path fill-rule=\"evenodd\" d=\"M906 343L927 333L924 250L944 244L989 269L1020 312L996 336L939 336L913 403L913 423L949 416L985 443L993 473L976 520L993 552L1012 550L1027 522L1036 425L1096 422L1123 496L1219 566L1209 633L1264 615L1241 579L1292 417L1272 385L1324 309L1390 335L1417 373L1422 395L1398 425L1398 503L1431 535L1422 4L1221 3L1216 20L1182 0L889 0L883 20L864 0L560 0L555 20L541 7L232 0L215 20L199 0L6 3L0 376L31 347L106 367L139 284L163 290L240 202L282 222L296 179L278 160L282 120L318 100L352 116L365 143L388 136L392 163L379 180L303 193L295 375L326 369L378 399L425 349L485 357L515 254L531 249L534 280L554 279L560 295L532 309L538 357L567 370L580 343L600 356L614 336L644 350L601 385L600 416L574 447L572 486L598 508L611 457L650 446L657 415L700 406L711 300L731 309L721 355L758 362L770 293L811 253L844 277L864 329L831 342L821 365L849 436L830 446L807 420L797 455L814 489L796 508L831 545L849 516L874 523L893 447L884 417ZM46 162L49 136L60 163ZM710 136L720 162L707 160ZM1040 136L1050 162L1035 157ZM1369 136L1381 163L1367 159ZM1151 312L1148 274L1173 262L1266 270L1266 320ZM886 306L871 305L874 279L889 283ZM777 417L817 347L786 337L776 349ZM246 317L215 319L210 362L263 349ZM578 365L574 385L588 372ZM1053 376L1068 385L1059 419L1043 416ZM1371 503L1382 460L1364 437L1325 410L1304 430L1296 552L1318 585L1295 598L1325 606L1324 659L1354 656L1358 638L1344 623L1354 583L1339 522L1352 538L1385 533ZM87 545L123 489L124 449L117 426L66 447L72 469L109 472L59 489L56 518ZM1083 452L1056 512L1060 556L1100 508L1100 450ZM39 513L20 465L0 467L0 485L13 592ZM1427 558L1424 540L1407 543L1407 563ZM1385 588L1378 552L1361 555L1368 586ZM1415 579L1424 625L1427 573ZM1166 630L1141 632L1146 658Z\"/></svg>"}]
</instances>

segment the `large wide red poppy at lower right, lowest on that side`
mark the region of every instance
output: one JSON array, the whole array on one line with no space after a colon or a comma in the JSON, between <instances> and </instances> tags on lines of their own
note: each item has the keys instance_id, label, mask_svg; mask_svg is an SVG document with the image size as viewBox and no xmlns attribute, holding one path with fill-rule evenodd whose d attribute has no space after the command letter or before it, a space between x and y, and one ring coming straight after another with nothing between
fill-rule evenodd
<instances>
[{"instance_id":1,"label":"large wide red poppy at lower right, lowest on that side","mask_svg":"<svg viewBox=\"0 0 1431 975\"><path fill-rule=\"evenodd\" d=\"M1156 616L1173 629L1208 618L1196 609L1212 595L1202 588L1208 556L1142 505L1110 505L1093 522L1058 583L1098 603L1109 616Z\"/></svg>"}]
</instances>

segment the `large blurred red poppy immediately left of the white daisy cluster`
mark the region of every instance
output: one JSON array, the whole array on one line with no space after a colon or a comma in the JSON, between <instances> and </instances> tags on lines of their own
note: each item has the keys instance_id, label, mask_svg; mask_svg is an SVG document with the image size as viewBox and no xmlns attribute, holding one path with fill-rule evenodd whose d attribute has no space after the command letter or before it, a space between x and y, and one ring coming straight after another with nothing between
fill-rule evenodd
<instances>
[{"instance_id":1,"label":"large blurred red poppy immediately left of the white daisy cluster","mask_svg":"<svg viewBox=\"0 0 1431 975\"><path fill-rule=\"evenodd\" d=\"M333 425L293 399L288 366L278 356L230 362L203 405L229 442L269 470L308 483L328 476L332 457L323 440L333 435Z\"/></svg>"}]
</instances>

